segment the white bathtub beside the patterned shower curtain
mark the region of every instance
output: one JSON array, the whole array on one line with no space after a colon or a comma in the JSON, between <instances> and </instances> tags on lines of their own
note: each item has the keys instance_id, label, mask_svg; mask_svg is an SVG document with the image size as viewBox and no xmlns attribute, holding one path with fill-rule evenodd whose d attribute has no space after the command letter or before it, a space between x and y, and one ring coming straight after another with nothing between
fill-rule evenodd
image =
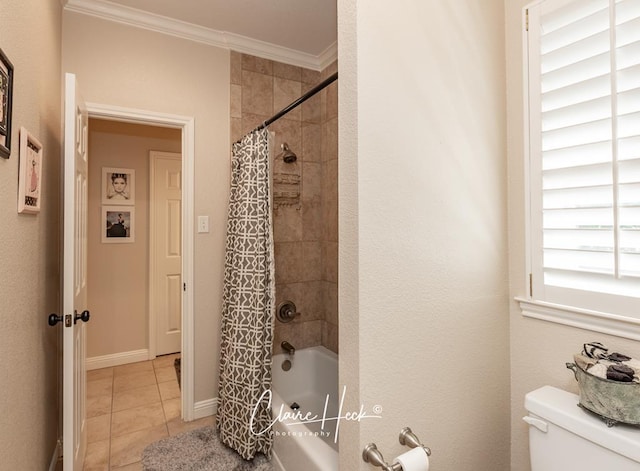
<instances>
[{"instance_id":1,"label":"white bathtub beside the patterned shower curtain","mask_svg":"<svg viewBox=\"0 0 640 471\"><path fill-rule=\"evenodd\" d=\"M292 366L284 371L287 359ZM272 375L275 471L338 471L336 420L330 419L338 412L338 355L324 347L274 355Z\"/></svg>"}]
</instances>

